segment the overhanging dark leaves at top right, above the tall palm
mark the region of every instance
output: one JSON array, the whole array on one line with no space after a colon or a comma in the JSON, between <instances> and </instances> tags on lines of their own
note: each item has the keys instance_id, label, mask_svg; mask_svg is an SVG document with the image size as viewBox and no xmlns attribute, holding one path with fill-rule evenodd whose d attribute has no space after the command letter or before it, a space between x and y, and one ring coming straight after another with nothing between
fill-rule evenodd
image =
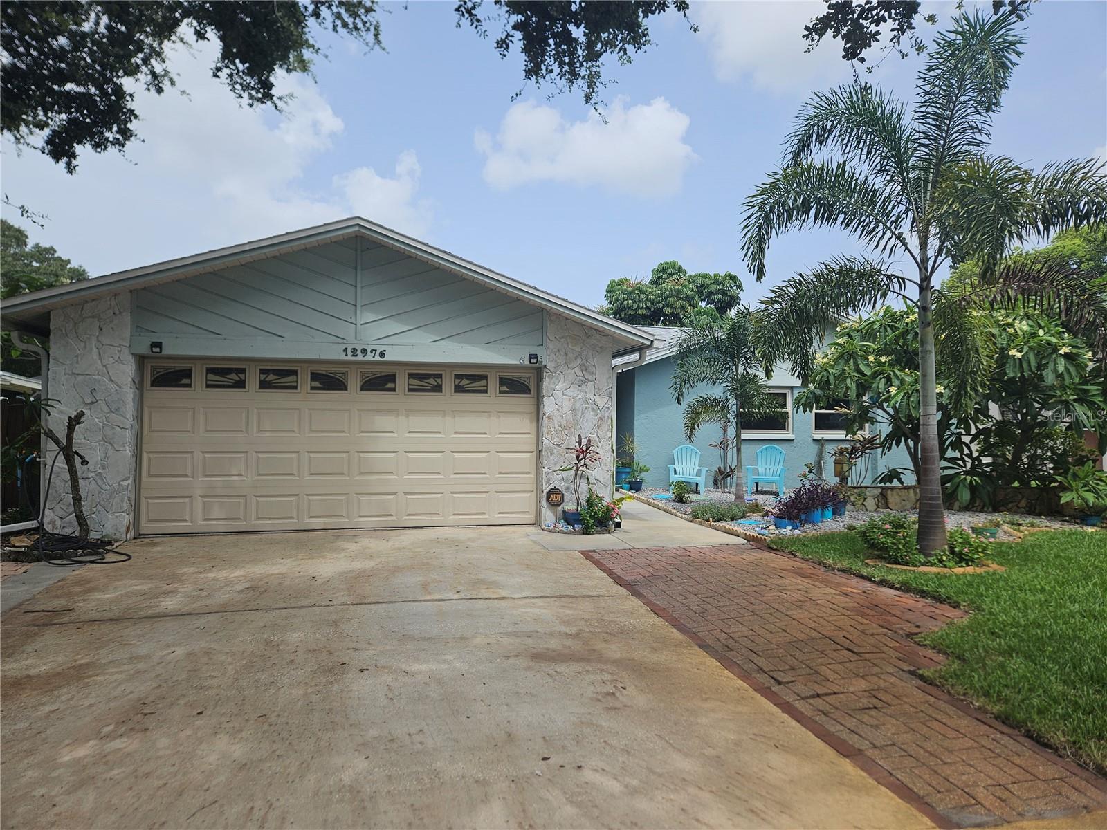
<instances>
[{"instance_id":1,"label":"overhanging dark leaves at top right, above the tall palm","mask_svg":"<svg viewBox=\"0 0 1107 830\"><path fill-rule=\"evenodd\" d=\"M1004 10L1025 17L1030 0L992 0L995 14ZM815 49L830 35L841 41L841 56L847 61L865 63L865 53L875 46L889 28L888 45L882 51L894 50L901 58L910 52L924 52L927 44L915 31L915 18L922 13L919 0L827 0L827 10L804 27L807 50ZM924 14L927 23L937 23L937 14ZM907 38L904 48L903 39Z\"/></svg>"}]
</instances>

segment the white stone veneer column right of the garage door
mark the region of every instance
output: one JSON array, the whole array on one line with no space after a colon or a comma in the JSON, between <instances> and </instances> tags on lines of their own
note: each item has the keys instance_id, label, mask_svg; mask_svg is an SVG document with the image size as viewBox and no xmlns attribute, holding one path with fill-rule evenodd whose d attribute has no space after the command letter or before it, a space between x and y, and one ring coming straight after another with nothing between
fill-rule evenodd
<instances>
[{"instance_id":1,"label":"white stone veneer column right of the garage door","mask_svg":"<svg viewBox=\"0 0 1107 830\"><path fill-rule=\"evenodd\" d=\"M575 446L578 433L586 439L590 437L600 452L600 463L591 476L592 488L611 496L614 477L611 354L614 350L613 338L559 314L547 314L546 365L538 413L541 424L539 516L542 522L555 518L555 511L546 504L547 489L556 486L565 490L566 506L571 507L575 500L572 474L558 473L558 468L572 463L569 447Z\"/></svg>"}]
</instances>

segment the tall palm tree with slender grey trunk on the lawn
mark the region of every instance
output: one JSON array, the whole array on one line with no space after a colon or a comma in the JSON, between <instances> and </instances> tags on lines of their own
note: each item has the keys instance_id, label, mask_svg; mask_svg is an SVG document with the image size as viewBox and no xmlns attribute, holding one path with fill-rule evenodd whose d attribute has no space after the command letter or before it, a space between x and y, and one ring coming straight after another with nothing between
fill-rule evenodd
<instances>
[{"instance_id":1,"label":"tall palm tree with slender grey trunk on the lawn","mask_svg":"<svg viewBox=\"0 0 1107 830\"><path fill-rule=\"evenodd\" d=\"M746 200L742 249L757 280L772 239L808 227L837 227L868 253L842 256L799 273L765 302L766 342L803 376L814 347L846 313L898 295L919 315L919 548L944 547L937 395L935 315L968 328L954 344L970 393L983 376L971 317L935 289L940 269L973 258L989 279L1024 239L1107 218L1107 176L1093 160L1039 173L989 154L992 118L1022 55L1010 13L960 14L940 34L915 84L911 112L872 85L855 82L813 95L785 142L782 168ZM898 262L908 262L910 273Z\"/></svg>"}]
</instances>

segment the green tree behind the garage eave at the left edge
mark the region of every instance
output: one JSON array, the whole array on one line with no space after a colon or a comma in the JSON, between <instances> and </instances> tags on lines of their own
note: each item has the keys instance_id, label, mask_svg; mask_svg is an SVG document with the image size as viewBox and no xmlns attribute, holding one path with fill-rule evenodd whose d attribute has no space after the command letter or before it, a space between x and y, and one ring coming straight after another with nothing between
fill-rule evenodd
<instances>
[{"instance_id":1,"label":"green tree behind the garage eave at the left edge","mask_svg":"<svg viewBox=\"0 0 1107 830\"><path fill-rule=\"evenodd\" d=\"M89 272L60 257L49 246L28 246L27 231L0 219L0 299L64 286L89 279ZM0 366L21 375L38 375L38 356L25 355L11 342L11 334L3 332L0 342Z\"/></svg>"}]
</instances>

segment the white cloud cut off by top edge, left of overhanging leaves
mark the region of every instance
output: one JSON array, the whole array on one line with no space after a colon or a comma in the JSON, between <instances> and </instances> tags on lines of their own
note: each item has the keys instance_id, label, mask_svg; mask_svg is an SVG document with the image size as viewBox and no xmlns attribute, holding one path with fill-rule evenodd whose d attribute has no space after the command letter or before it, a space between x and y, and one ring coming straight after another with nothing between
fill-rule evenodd
<instances>
[{"instance_id":1,"label":"white cloud cut off by top edge, left of overhanging leaves","mask_svg":"<svg viewBox=\"0 0 1107 830\"><path fill-rule=\"evenodd\" d=\"M772 93L806 92L849 76L838 41L804 50L804 27L826 10L818 2L705 2L692 18L720 81L749 82Z\"/></svg>"}]
</instances>

